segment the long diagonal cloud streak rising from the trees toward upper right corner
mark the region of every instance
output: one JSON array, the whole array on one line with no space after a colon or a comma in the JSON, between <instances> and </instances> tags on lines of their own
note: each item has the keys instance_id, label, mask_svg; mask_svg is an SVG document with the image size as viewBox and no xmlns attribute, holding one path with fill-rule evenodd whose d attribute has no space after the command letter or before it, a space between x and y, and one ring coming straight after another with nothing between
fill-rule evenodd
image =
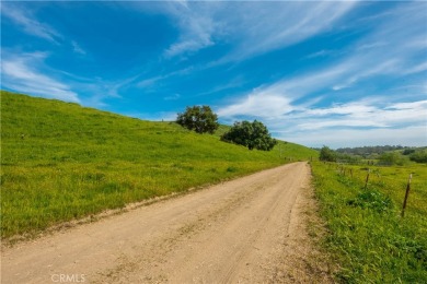
<instances>
[{"instance_id":1,"label":"long diagonal cloud streak rising from the trees toward upper right corner","mask_svg":"<svg viewBox=\"0 0 427 284\"><path fill-rule=\"evenodd\" d=\"M350 49L349 52L330 66L314 71L311 69L309 72L301 72L292 78L284 78L269 85L262 85L250 95L242 96L231 106L223 107L220 111L224 115L234 115L239 110L240 115L259 116L261 114L272 117L280 114L278 109L282 109L281 114L286 114L292 108L298 109L295 104L298 99L313 98L313 96L325 93L339 94L346 88L357 91L359 83L376 76L388 75L402 79L402 75L425 72L427 70L426 62L414 64L414 56L423 52L423 49L420 46L409 44L418 43L419 38L425 36L425 31L415 24L425 19L419 10L423 9L409 7L392 10L388 13L391 17L386 21L383 20L384 22L380 23L379 27L371 34L360 39L353 50ZM395 21L397 24L394 23ZM399 31L400 37L395 35L395 31ZM377 38L382 38L381 44L378 43ZM406 42L400 44L403 39ZM318 54L319 56L323 55L322 51ZM318 55L313 55L313 57L315 56ZM272 95L275 96L275 100L269 99ZM363 96L370 95L365 94ZM247 107L254 97L257 97L259 102L266 97L266 100L259 108ZM280 97L287 102L286 107L278 107L276 100ZM345 96L342 99L348 100ZM230 111L230 109L235 109L235 111Z\"/></svg>"}]
</instances>

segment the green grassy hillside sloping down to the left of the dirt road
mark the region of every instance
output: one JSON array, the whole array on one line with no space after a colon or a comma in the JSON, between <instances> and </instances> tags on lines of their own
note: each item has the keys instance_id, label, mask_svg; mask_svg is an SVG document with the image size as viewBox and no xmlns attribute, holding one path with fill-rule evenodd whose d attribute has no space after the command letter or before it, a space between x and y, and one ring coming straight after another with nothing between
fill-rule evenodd
<instances>
[{"instance_id":1,"label":"green grassy hillside sloping down to the left of the dirt road","mask_svg":"<svg viewBox=\"0 0 427 284\"><path fill-rule=\"evenodd\" d=\"M310 156L318 152L292 143L249 151L174 122L2 91L1 236Z\"/></svg>"}]
</instances>

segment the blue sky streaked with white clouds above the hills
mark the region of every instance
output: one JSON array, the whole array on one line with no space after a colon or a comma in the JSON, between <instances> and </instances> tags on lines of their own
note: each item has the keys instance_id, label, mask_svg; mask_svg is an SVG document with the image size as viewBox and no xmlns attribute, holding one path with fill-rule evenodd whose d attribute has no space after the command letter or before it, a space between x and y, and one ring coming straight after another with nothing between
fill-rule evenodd
<instances>
[{"instance_id":1,"label":"blue sky streaked with white clouds above the hills","mask_svg":"<svg viewBox=\"0 0 427 284\"><path fill-rule=\"evenodd\" d=\"M308 146L427 145L427 2L1 2L1 88Z\"/></svg>"}]
</instances>

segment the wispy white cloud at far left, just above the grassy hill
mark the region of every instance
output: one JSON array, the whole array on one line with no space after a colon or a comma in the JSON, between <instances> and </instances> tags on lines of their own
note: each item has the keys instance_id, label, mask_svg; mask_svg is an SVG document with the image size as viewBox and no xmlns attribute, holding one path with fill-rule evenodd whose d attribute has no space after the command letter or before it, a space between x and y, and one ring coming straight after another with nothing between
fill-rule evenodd
<instances>
[{"instance_id":1,"label":"wispy white cloud at far left, just above the grassy hill","mask_svg":"<svg viewBox=\"0 0 427 284\"><path fill-rule=\"evenodd\" d=\"M79 103L78 94L72 92L67 84L43 74L37 68L45 58L46 54L41 52L21 56L4 56L3 54L2 85L18 92Z\"/></svg>"}]
</instances>

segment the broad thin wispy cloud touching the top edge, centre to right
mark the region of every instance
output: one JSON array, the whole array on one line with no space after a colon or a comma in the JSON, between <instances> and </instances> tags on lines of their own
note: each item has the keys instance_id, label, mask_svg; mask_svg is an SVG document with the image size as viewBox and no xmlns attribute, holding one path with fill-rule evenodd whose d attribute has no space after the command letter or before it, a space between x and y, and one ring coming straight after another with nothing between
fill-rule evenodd
<instances>
[{"instance_id":1,"label":"broad thin wispy cloud touching the top edge, centre to right","mask_svg":"<svg viewBox=\"0 0 427 284\"><path fill-rule=\"evenodd\" d=\"M195 52L216 44L234 43L216 63L241 61L300 43L327 31L355 2L174 2L164 11L180 27L168 57ZM249 16L251 15L251 16ZM227 28L226 28L227 27Z\"/></svg>"}]
</instances>

